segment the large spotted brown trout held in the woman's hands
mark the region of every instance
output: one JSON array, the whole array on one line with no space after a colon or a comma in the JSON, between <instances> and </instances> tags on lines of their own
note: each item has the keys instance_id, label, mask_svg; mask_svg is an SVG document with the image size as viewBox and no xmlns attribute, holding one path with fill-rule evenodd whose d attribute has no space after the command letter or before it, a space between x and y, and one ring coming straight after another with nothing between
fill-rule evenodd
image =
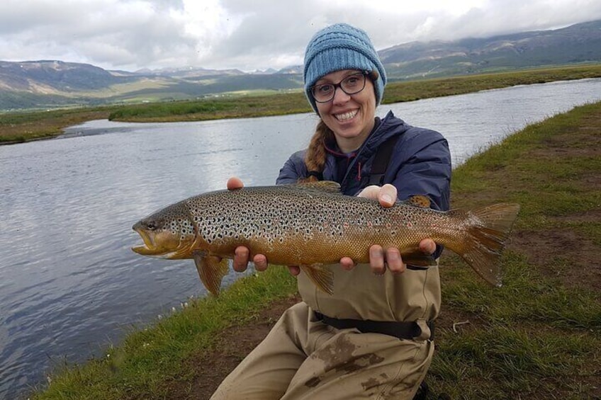
<instances>
[{"instance_id":1,"label":"large spotted brown trout held in the woman's hands","mask_svg":"<svg viewBox=\"0 0 601 400\"><path fill-rule=\"evenodd\" d=\"M335 182L300 183L219 190L197 195L137 222L133 229L144 256L193 258L203 285L218 295L237 246L271 264L299 265L320 290L332 294L332 272L325 265L347 256L369 263L369 247L396 247L410 265L434 265L418 244L431 238L459 254L476 273L500 286L498 258L519 205L495 204L475 210L440 212L398 202L342 195Z\"/></svg>"}]
</instances>

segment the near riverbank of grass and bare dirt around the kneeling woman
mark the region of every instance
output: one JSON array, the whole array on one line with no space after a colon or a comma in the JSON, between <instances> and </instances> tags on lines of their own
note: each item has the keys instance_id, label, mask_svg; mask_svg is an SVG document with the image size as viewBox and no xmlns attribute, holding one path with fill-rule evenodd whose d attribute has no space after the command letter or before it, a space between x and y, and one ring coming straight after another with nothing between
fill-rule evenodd
<instances>
[{"instance_id":1,"label":"near riverbank of grass and bare dirt around the kneeling woman","mask_svg":"<svg viewBox=\"0 0 601 400\"><path fill-rule=\"evenodd\" d=\"M601 394L601 103L526 127L454 171L453 207L522 205L489 287L451 253L427 382L453 399ZM296 301L286 268L192 302L31 399L208 399Z\"/></svg>"}]
</instances>

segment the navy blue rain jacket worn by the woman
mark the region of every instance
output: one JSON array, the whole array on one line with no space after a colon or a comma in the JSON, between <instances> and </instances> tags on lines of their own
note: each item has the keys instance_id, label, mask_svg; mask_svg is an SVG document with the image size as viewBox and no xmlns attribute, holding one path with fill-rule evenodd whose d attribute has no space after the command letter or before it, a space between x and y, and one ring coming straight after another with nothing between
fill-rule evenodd
<instances>
[{"instance_id":1,"label":"navy blue rain jacket worn by the woman","mask_svg":"<svg viewBox=\"0 0 601 400\"><path fill-rule=\"evenodd\" d=\"M451 154L446 139L434 130L408 125L389 111L376 120L364 144L352 154L343 154L335 143L327 144L328 154L323 171L325 181L340 183L342 193L357 195L369 183L376 150L394 135L399 138L388 161L383 183L398 190L398 200L413 195L427 195L435 210L449 210ZM281 168L276 183L296 183L308 176L305 152L292 154ZM437 251L439 253L439 251Z\"/></svg>"}]
</instances>

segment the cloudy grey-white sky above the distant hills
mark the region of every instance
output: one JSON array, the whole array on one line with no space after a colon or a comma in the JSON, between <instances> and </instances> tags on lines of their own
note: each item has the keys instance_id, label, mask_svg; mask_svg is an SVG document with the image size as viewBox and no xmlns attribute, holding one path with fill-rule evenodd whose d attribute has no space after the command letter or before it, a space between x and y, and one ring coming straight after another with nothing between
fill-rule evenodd
<instances>
[{"instance_id":1,"label":"cloudy grey-white sky above the distant hills","mask_svg":"<svg viewBox=\"0 0 601 400\"><path fill-rule=\"evenodd\" d=\"M600 0L0 0L0 60L253 71L302 64L313 33L337 22L381 50L595 19Z\"/></svg>"}]
</instances>

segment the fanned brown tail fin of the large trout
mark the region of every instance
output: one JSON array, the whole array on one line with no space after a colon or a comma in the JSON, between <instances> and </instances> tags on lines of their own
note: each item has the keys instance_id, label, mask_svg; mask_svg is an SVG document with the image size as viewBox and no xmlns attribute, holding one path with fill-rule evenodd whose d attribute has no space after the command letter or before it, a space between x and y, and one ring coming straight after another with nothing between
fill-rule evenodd
<instances>
[{"instance_id":1,"label":"fanned brown tail fin of the large trout","mask_svg":"<svg viewBox=\"0 0 601 400\"><path fill-rule=\"evenodd\" d=\"M459 254L491 285L500 287L499 258L518 212L519 204L515 203L451 211L451 215L467 222L468 227L465 228L466 240L462 243L449 243L449 249Z\"/></svg>"}]
</instances>

